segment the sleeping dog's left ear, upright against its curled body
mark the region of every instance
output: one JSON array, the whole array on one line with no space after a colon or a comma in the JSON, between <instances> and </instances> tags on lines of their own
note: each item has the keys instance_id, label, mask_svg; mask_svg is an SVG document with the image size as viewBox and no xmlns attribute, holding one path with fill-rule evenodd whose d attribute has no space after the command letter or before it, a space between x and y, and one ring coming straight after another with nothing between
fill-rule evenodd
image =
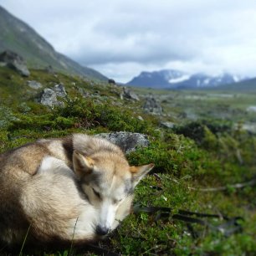
<instances>
[{"instance_id":1,"label":"sleeping dog's left ear, upright against its curled body","mask_svg":"<svg viewBox=\"0 0 256 256\"><path fill-rule=\"evenodd\" d=\"M84 156L79 151L73 152L74 173L79 177L93 172L95 161L89 156Z\"/></svg>"}]
</instances>

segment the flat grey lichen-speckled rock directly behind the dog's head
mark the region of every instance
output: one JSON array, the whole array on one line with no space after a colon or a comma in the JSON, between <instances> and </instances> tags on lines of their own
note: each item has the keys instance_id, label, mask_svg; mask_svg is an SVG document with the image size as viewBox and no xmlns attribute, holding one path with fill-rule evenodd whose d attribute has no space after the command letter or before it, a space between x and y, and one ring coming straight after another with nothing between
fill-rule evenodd
<instances>
[{"instance_id":1,"label":"flat grey lichen-speckled rock directly behind the dog's head","mask_svg":"<svg viewBox=\"0 0 256 256\"><path fill-rule=\"evenodd\" d=\"M126 131L118 131L112 133L100 133L96 137L104 138L117 146L120 146L121 150L125 154L131 151L136 151L138 146L149 146L150 142L147 136L141 133L133 133Z\"/></svg>"}]
</instances>

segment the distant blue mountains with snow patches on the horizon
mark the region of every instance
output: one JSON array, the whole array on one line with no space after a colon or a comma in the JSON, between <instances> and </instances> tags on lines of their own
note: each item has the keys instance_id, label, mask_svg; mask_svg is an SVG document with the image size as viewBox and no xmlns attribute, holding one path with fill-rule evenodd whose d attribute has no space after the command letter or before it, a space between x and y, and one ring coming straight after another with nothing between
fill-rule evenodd
<instances>
[{"instance_id":1,"label":"distant blue mountains with snow patches on the horizon","mask_svg":"<svg viewBox=\"0 0 256 256\"><path fill-rule=\"evenodd\" d=\"M233 74L219 74L210 76L203 73L186 74L178 70L160 70L153 72L141 72L140 75L131 79L127 85L152 88L170 88L170 89L193 89L216 87L222 84L237 83L244 78Z\"/></svg>"}]
</instances>

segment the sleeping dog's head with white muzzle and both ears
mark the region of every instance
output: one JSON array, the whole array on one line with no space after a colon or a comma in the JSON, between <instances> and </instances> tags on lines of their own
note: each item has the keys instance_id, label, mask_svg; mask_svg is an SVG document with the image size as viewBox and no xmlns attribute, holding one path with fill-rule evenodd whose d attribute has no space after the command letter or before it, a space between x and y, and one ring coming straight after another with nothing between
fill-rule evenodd
<instances>
[{"instance_id":1,"label":"sleeping dog's head with white muzzle and both ears","mask_svg":"<svg viewBox=\"0 0 256 256\"><path fill-rule=\"evenodd\" d=\"M115 229L131 212L133 191L154 166L129 166L124 156L105 151L92 156L74 151L73 163L84 193L99 209L98 235Z\"/></svg>"}]
</instances>

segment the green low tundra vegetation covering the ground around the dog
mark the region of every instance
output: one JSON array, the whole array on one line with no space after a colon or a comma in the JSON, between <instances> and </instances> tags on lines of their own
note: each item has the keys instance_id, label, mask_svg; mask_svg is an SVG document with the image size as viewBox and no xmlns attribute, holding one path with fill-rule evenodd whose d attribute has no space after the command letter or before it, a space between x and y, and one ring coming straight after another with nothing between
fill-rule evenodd
<instances>
[{"instance_id":1,"label":"green low tundra vegetation covering the ground around the dog","mask_svg":"<svg viewBox=\"0 0 256 256\"><path fill-rule=\"evenodd\" d=\"M42 88L28 86L36 80ZM44 88L64 84L64 105L48 106L35 101ZM31 70L23 78L0 68L0 151L8 151L38 138L66 136L74 132L131 131L146 134L151 145L131 152L131 165L154 162L156 167L136 188L135 203L172 207L192 212L240 216L243 231L226 236L180 220L159 218L157 213L132 213L98 246L123 255L255 255L256 186L233 184L255 179L256 136L246 125L256 122L256 90L155 91L131 89L141 100L120 100L115 84L64 74ZM164 113L149 115L141 106L148 93L161 102ZM58 98L58 97L57 97ZM139 118L140 116L140 118ZM141 118L142 117L142 118ZM161 121L175 123L161 127ZM210 189L213 188L213 189ZM210 219L212 225L222 220ZM25 241L24 241L25 242ZM8 255L5 248L1 254ZM24 248L23 255L94 255L84 248L49 251Z\"/></svg>"}]
</instances>

